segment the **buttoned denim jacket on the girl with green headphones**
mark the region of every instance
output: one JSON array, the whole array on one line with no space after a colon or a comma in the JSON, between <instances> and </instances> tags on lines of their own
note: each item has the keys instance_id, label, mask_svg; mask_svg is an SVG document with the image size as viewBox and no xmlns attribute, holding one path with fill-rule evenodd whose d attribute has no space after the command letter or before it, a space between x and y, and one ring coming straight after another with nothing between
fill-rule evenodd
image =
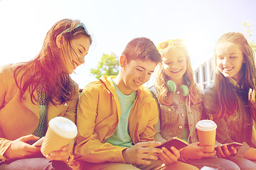
<instances>
[{"instance_id":1,"label":"buttoned denim jacket on the girl with green headphones","mask_svg":"<svg viewBox=\"0 0 256 170\"><path fill-rule=\"evenodd\" d=\"M191 142L198 142L196 135L196 123L201 120L201 113L203 110L202 103L189 106L189 96L186 96L186 102L183 102L181 94L173 94L170 106L159 104L157 100L157 92L154 86L149 88L152 96L155 98L159 107L159 122L156 124L156 141L164 142L171 139L171 137L181 138L185 119L184 111L186 109L188 116L188 128L191 132Z\"/></svg>"}]
</instances>

